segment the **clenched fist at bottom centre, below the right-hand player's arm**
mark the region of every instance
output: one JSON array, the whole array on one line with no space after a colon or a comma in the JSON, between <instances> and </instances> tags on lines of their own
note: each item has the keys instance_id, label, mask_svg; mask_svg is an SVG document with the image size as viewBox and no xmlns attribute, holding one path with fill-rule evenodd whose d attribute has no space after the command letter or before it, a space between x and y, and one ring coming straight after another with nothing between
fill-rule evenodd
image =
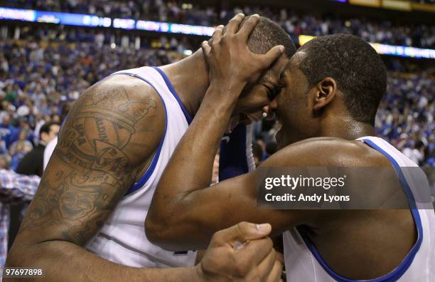
<instances>
[{"instance_id":1,"label":"clenched fist at bottom centre, below the right-hand player's arm","mask_svg":"<svg viewBox=\"0 0 435 282\"><path fill-rule=\"evenodd\" d=\"M241 222L213 236L197 270L203 281L280 281L270 224Z\"/></svg>"}]
</instances>

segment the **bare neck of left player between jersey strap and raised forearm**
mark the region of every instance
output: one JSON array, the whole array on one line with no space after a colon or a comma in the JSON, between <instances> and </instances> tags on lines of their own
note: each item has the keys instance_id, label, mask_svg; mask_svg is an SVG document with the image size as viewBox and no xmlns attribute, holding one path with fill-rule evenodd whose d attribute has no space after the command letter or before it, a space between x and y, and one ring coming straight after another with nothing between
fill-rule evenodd
<instances>
[{"instance_id":1,"label":"bare neck of left player between jersey strap and raised forearm","mask_svg":"<svg viewBox=\"0 0 435 282\"><path fill-rule=\"evenodd\" d=\"M198 111L209 85L208 69L203 58L203 51L200 49L181 61L161 68L168 75L178 97L193 117Z\"/></svg>"}]
</instances>

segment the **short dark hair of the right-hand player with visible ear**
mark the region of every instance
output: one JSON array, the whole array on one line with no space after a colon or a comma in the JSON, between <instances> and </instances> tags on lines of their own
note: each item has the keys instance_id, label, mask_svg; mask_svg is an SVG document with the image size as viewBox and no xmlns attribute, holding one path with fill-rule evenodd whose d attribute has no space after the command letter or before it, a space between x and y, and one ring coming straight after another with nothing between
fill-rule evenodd
<instances>
[{"instance_id":1,"label":"short dark hair of the right-hand player with visible ear","mask_svg":"<svg viewBox=\"0 0 435 282\"><path fill-rule=\"evenodd\" d=\"M299 68L309 87L334 78L350 114L359 122L375 124L380 99L387 88L387 71L375 49L358 36L333 34L308 41Z\"/></svg>"}]
</instances>

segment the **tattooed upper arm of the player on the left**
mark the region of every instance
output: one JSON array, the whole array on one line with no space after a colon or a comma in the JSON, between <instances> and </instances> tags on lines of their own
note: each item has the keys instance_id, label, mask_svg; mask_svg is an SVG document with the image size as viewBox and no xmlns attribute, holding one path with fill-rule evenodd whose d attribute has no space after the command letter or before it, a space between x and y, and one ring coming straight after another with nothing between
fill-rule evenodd
<instances>
[{"instance_id":1,"label":"tattooed upper arm of the player on the left","mask_svg":"<svg viewBox=\"0 0 435 282\"><path fill-rule=\"evenodd\" d=\"M27 240L85 244L159 144L161 101L140 80L120 77L93 85L70 111L21 226Z\"/></svg>"}]
</instances>

